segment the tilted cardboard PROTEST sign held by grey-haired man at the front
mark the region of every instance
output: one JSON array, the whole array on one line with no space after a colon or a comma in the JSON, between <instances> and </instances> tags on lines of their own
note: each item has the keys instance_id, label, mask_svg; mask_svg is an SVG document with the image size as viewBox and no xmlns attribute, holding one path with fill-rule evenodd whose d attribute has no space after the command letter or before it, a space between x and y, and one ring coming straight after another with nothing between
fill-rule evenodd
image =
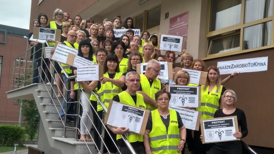
<instances>
[{"instance_id":1,"label":"tilted cardboard PROTEST sign held by grey-haired man at the front","mask_svg":"<svg viewBox=\"0 0 274 154\"><path fill-rule=\"evenodd\" d=\"M149 110L110 100L105 125L115 128L126 127L129 132L144 135Z\"/></svg>"}]
</instances>

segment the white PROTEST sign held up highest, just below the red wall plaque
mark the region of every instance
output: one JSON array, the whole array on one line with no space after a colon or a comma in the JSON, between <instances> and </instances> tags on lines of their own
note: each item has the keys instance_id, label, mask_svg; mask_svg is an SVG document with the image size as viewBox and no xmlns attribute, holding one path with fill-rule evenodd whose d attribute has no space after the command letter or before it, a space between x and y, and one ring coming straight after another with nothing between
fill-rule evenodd
<instances>
[{"instance_id":1,"label":"white PROTEST sign held up highest, just below the red wall plaque","mask_svg":"<svg viewBox=\"0 0 274 154\"><path fill-rule=\"evenodd\" d=\"M161 35L160 50L182 51L183 36Z\"/></svg>"}]
</instances>

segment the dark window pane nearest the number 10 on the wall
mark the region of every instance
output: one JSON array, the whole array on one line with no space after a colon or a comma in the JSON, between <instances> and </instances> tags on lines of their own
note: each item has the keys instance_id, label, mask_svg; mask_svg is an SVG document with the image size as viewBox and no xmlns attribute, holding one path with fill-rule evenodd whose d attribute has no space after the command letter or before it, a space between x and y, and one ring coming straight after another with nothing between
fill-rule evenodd
<instances>
[{"instance_id":1,"label":"dark window pane nearest the number 10 on the wall","mask_svg":"<svg viewBox=\"0 0 274 154\"><path fill-rule=\"evenodd\" d=\"M150 29L160 25L160 18L161 18L161 6L148 11L148 16L146 20L146 29Z\"/></svg>"}]
</instances>

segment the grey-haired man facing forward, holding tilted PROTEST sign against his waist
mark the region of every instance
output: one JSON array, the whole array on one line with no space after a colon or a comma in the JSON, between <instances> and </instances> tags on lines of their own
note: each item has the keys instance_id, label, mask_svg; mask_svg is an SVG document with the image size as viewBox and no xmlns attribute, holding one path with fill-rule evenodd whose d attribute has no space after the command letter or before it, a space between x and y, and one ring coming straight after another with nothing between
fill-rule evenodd
<instances>
[{"instance_id":1,"label":"grey-haired man facing forward, holding tilted PROTEST sign against his waist","mask_svg":"<svg viewBox=\"0 0 274 154\"><path fill-rule=\"evenodd\" d=\"M136 71L131 71L126 74L125 79L125 84L127 85L126 91L122 91L118 95L115 95L112 100L145 109L146 104L144 103L143 96L139 93L136 93L140 88L140 75ZM108 128L114 134L118 134L116 139L118 149L121 152L121 154L131 153L120 136L122 134L126 136L126 138L128 139L128 141L130 142L130 144L132 145L133 149L136 151L137 154L146 153L143 143L143 135L128 132L128 128L126 129L125 127Z\"/></svg>"}]
</instances>

